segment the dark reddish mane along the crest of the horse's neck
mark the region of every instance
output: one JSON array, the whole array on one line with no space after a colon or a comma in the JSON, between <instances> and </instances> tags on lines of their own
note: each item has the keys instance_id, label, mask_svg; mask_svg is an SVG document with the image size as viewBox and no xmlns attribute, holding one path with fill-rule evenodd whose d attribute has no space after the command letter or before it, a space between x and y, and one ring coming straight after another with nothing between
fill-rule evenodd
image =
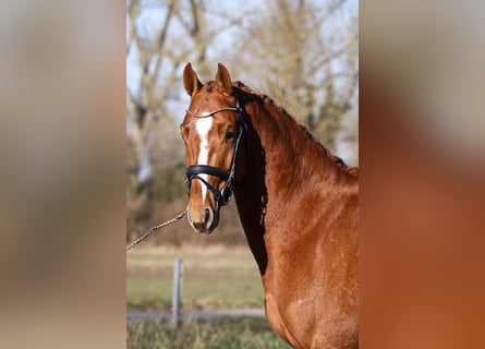
<instances>
[{"instance_id":1,"label":"dark reddish mane along the crest of the horse's neck","mask_svg":"<svg viewBox=\"0 0 485 349\"><path fill-rule=\"evenodd\" d=\"M316 140L312 133L310 133L308 129L305 128L304 125L300 124L296 122L296 120L290 116L288 113L288 111L279 106L277 103L275 103L275 100L265 95L265 94L260 94L255 92L254 89L252 89L251 87L244 85L244 83L238 81L235 83L233 83L233 85L235 87L238 87L239 89L243 91L244 93L251 94L256 96L257 98L259 98L263 104L265 106L268 107L268 110L270 111L275 111L276 113L278 113L279 116L281 116L282 118L284 118L287 121L289 121L290 123L292 123L295 129L310 142L312 142L317 151L322 154L322 156L324 158L326 158L334 168L338 169L341 172L344 172L349 176L352 177L357 177L359 176L359 168L357 167L350 167L348 166L340 157L332 155L331 152L329 149L327 149L318 140Z\"/></svg>"}]
</instances>

